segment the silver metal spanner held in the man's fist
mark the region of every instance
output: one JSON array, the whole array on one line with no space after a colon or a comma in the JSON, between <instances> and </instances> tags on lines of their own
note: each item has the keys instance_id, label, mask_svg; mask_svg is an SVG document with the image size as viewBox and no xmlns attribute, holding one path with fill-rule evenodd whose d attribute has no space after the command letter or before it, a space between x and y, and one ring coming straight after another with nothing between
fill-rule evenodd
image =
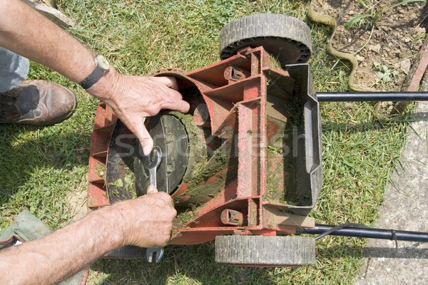
<instances>
[{"instance_id":1,"label":"silver metal spanner held in the man's fist","mask_svg":"<svg viewBox=\"0 0 428 285\"><path fill-rule=\"evenodd\" d=\"M162 150L161 147L153 147L153 150L150 155L144 158L143 165L148 170L148 179L150 181L150 185L154 187L158 187L156 182L156 170L158 166L161 164L162 160ZM161 248L148 248L146 249L146 258L148 262L153 260L153 253L156 252L156 263L161 261L163 257L163 247Z\"/></svg>"}]
</instances>

